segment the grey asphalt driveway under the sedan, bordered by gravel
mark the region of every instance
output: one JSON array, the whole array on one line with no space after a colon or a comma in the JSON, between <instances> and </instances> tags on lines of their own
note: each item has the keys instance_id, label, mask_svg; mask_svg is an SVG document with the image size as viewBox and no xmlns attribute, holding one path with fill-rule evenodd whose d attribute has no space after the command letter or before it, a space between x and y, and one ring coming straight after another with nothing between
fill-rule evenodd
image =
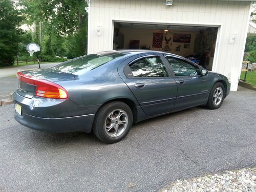
<instances>
[{"instance_id":1,"label":"grey asphalt driveway under the sedan, bordered by gravel","mask_svg":"<svg viewBox=\"0 0 256 192\"><path fill-rule=\"evenodd\" d=\"M93 134L46 134L0 107L0 191L157 191L170 181L256 165L256 92L219 110L193 108L140 122L105 145Z\"/></svg>"}]
</instances>

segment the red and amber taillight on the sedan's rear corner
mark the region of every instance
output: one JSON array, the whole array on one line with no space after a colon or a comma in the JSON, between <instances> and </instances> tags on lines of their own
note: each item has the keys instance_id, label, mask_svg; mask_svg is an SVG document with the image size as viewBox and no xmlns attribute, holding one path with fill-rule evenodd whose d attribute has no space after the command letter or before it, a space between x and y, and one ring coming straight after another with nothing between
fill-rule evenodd
<instances>
[{"instance_id":1,"label":"red and amber taillight on the sedan's rear corner","mask_svg":"<svg viewBox=\"0 0 256 192\"><path fill-rule=\"evenodd\" d=\"M66 99L68 98L67 91L56 83L36 79L23 74L22 72L17 73L17 77L20 81L33 84L36 86L35 96L52 98L52 99Z\"/></svg>"}]
</instances>

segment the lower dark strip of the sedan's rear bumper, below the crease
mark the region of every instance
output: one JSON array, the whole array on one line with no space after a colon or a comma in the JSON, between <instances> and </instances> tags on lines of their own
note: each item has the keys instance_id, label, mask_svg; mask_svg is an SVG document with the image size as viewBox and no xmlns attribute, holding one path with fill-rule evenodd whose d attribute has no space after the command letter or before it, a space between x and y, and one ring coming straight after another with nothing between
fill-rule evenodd
<instances>
[{"instance_id":1,"label":"lower dark strip of the sedan's rear bumper, below the crease","mask_svg":"<svg viewBox=\"0 0 256 192\"><path fill-rule=\"evenodd\" d=\"M62 118L42 118L28 115L26 113L22 113L22 115L19 115L16 111L14 114L14 118L20 124L23 124L33 130L49 133L90 133L92 130L94 116L95 114Z\"/></svg>"}]
</instances>

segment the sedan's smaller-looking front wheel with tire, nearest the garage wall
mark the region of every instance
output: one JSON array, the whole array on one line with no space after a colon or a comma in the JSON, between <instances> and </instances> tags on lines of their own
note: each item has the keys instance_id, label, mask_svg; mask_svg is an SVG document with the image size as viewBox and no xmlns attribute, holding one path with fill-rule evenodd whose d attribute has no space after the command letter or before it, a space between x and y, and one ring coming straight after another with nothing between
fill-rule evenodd
<instances>
[{"instance_id":1,"label":"sedan's smaller-looking front wheel with tire, nearest the garage wall","mask_svg":"<svg viewBox=\"0 0 256 192\"><path fill-rule=\"evenodd\" d=\"M212 87L206 107L211 110L220 108L225 96L225 88L221 82L217 82Z\"/></svg>"}]
</instances>

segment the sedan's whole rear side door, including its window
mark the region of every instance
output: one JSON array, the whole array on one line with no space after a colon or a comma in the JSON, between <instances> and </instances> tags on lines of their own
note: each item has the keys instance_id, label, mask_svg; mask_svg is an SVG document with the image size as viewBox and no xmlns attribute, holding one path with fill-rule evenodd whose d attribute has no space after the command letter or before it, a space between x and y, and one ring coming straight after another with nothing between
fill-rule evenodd
<instances>
[{"instance_id":1,"label":"sedan's whole rear side door, including its window","mask_svg":"<svg viewBox=\"0 0 256 192\"><path fill-rule=\"evenodd\" d=\"M160 55L137 58L124 68L123 79L150 116L171 112L177 95L177 83L169 77Z\"/></svg>"}]
</instances>

